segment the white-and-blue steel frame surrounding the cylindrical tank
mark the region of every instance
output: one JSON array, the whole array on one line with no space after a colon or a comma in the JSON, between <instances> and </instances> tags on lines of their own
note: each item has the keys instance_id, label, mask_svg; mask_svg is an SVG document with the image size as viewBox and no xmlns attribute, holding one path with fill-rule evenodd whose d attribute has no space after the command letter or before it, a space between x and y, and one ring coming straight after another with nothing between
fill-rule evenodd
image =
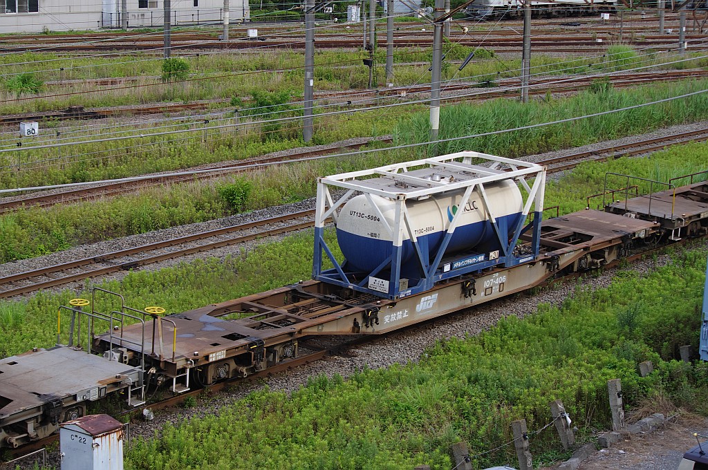
<instances>
[{"instance_id":1,"label":"white-and-blue steel frame surrounding the cylindrical tank","mask_svg":"<svg viewBox=\"0 0 708 470\"><path fill-rule=\"evenodd\" d=\"M481 162L481 164L479 162ZM485 166L485 162L488 163L489 166ZM413 169L425 167L448 173L450 171L466 171L479 174L479 177L468 180L458 180L453 183L439 183L406 174ZM392 180L406 183L409 185L409 189L405 192L393 192L391 190L372 188L370 185L364 183L364 180L368 178L392 178ZM533 181L530 183L528 180L532 178ZM524 192L521 191L523 211L517 226L513 227L513 236L510 239L497 227L493 201L489 200L484 190L484 185L503 180L515 180L526 192L526 195L524 195ZM481 270L491 268L495 265L510 267L534 260L539 254L545 180L546 168L544 166L526 161L506 159L501 156L481 154L476 151L461 151L455 154L407 161L369 170L352 171L319 178L317 183L312 276L316 280L340 285L359 292L366 292L387 299L400 299L417 294L418 292L430 290L435 283L452 277L459 277L460 275L472 272L479 273ZM410 187L419 189L411 190ZM460 210L453 216L450 227L445 232L440 248L438 248L434 256L430 256L430 259L433 261L426 263L424 261L426 257L421 253L421 247L418 246L416 241L415 228L409 220L409 214L406 210L406 201L423 200L433 195L464 190L462 200L459 202L459 207L464 207L464 205L469 202L469 198L476 189L479 190L484 209L489 214L491 226L496 232L496 236L501 245L498 257L489 259L492 257L484 256L484 259L477 261L467 259L469 256L462 256L459 260L465 261L466 266L464 268L455 270L445 269L445 265L450 262L455 262L454 259L450 260L449 256L445 259L445 263L442 263L442 260L445 256L448 243L450 243L450 239L452 238L452 234L462 216L463 211ZM345 192L340 196L339 194L341 194L342 190ZM393 227L388 227L393 234L392 256L370 273L365 273L363 277L362 273L347 272L346 263L344 263L345 265L343 266L336 260L324 238L326 220L332 217L336 223L338 220L338 210L341 210L341 207L343 207L344 203L346 203L350 197L359 193L363 193L367 195L367 197L370 197L370 195L378 195L388 198L395 203L394 225ZM531 210L533 210L531 222L526 222L527 216ZM384 219L380 213L379 217ZM519 237L529 230L532 230L530 250L523 253L523 255L517 256L514 253L514 248ZM413 243L416 256L425 272L421 280L413 286L401 286L401 251L404 241L404 231L408 234L410 241ZM333 264L333 268L324 270L324 260L329 260ZM379 279L376 277L377 274L382 271L390 272L388 279ZM371 282L372 279L374 281L373 283ZM377 288L372 289L372 285ZM384 292L384 290L387 292Z\"/></svg>"}]
</instances>

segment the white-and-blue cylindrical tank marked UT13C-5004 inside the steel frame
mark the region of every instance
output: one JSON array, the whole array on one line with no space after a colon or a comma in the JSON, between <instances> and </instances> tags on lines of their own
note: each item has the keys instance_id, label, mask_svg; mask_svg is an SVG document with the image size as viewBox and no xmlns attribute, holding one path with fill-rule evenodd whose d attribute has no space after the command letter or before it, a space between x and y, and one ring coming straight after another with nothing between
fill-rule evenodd
<instances>
[{"instance_id":1,"label":"white-and-blue cylindrical tank marked UT13C-5004 inside the steel frame","mask_svg":"<svg viewBox=\"0 0 708 470\"><path fill-rule=\"evenodd\" d=\"M484 190L498 227L502 233L513 234L523 211L523 199L518 186L512 180L503 180L485 184ZM459 210L463 195L464 190L457 190L433 195L425 200L406 201L411 228L415 231L421 250L429 254L429 262L433 261L438 252L452 217ZM396 202L377 195L370 197L385 222L365 195L348 200L338 217L337 241L347 260L346 268L350 271L370 273L387 260L393 251L392 234L387 231L385 224L394 227ZM446 254L472 250L480 245L488 247L498 244L495 243L497 236L489 222L489 214L484 209L479 190L472 192L461 217ZM415 249L405 228L402 248L402 270L416 268L418 263L414 258Z\"/></svg>"}]
</instances>

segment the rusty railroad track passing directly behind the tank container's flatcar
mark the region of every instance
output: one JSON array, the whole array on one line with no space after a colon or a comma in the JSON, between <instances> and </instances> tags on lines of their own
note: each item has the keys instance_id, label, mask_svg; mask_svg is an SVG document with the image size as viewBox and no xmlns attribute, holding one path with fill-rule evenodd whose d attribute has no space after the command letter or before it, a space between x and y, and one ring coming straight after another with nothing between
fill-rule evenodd
<instances>
[{"instance_id":1,"label":"rusty railroad track passing directly behind the tank container's flatcar","mask_svg":"<svg viewBox=\"0 0 708 470\"><path fill-rule=\"evenodd\" d=\"M660 150L670 145L683 144L686 142L702 142L706 140L708 140L708 128L691 132L681 132L666 137L646 139L632 144L610 146L605 149L576 152L537 163L547 166L548 173L556 173L574 168L585 161L606 161L619 158L620 156L646 154L650 151ZM181 236L175 239L137 246L135 248L127 248L121 251L74 260L69 263L52 265L47 268L0 277L0 298L28 294L48 287L56 287L69 282L84 280L89 277L139 268L163 260L188 256L193 253L209 251L236 243L244 243L246 241L263 238L264 236L285 234L291 231L306 229L312 227L313 215L313 210L296 212L272 219ZM271 224L285 224L285 226L244 234L245 231L270 226ZM185 245L185 243L193 244L180 247L181 245ZM170 251L165 251L166 248L171 249ZM140 256L137 257L138 255Z\"/></svg>"}]
</instances>

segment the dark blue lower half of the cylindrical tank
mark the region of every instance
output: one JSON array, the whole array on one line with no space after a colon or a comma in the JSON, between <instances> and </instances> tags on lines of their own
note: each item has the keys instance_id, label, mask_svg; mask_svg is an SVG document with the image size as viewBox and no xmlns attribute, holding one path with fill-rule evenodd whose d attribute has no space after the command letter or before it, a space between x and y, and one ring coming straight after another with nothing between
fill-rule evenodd
<instances>
[{"instance_id":1,"label":"dark blue lower half of the cylindrical tank","mask_svg":"<svg viewBox=\"0 0 708 470\"><path fill-rule=\"evenodd\" d=\"M498 217L496 221L501 233L511 236L521 222L521 217L520 213ZM418 237L423 256L428 256L426 264L435 258L445 233L445 231L438 231ZM391 241L350 234L348 231L340 229L337 229L337 241L347 260L346 268L349 271L370 273L388 260L393 253ZM447 245L445 254L452 255L457 251L473 250L477 245L484 245L485 248L498 246L498 239L491 222L482 221L457 227ZM418 277L418 260L416 258L413 243L410 240L404 240L401 247L401 276ZM416 272L411 273L411 270L416 270Z\"/></svg>"}]
</instances>

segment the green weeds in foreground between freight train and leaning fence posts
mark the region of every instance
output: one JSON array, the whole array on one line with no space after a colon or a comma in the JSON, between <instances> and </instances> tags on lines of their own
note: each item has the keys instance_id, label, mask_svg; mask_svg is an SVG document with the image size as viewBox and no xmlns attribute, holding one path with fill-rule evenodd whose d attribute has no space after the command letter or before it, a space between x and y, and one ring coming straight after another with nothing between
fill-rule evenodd
<instances>
[{"instance_id":1,"label":"green weeds in foreground between freight train and leaning fence posts","mask_svg":"<svg viewBox=\"0 0 708 470\"><path fill-rule=\"evenodd\" d=\"M254 392L138 440L126 469L450 469L450 445L467 442L474 455L509 442L511 420L525 418L536 430L552 420L555 399L581 442L610 428L607 380L615 378L629 408L663 396L706 411L708 367L675 357L678 345L697 344L707 254L675 253L666 268L646 277L619 273L596 292L579 284L562 306L541 305L477 337L440 341L406 366L364 369L348 380L313 377L290 396ZM626 309L637 311L632 332L619 321ZM644 360L656 370L641 378L636 367ZM530 446L535 456L561 452L552 427L532 435ZM506 446L474 464L514 460Z\"/></svg>"}]
</instances>

